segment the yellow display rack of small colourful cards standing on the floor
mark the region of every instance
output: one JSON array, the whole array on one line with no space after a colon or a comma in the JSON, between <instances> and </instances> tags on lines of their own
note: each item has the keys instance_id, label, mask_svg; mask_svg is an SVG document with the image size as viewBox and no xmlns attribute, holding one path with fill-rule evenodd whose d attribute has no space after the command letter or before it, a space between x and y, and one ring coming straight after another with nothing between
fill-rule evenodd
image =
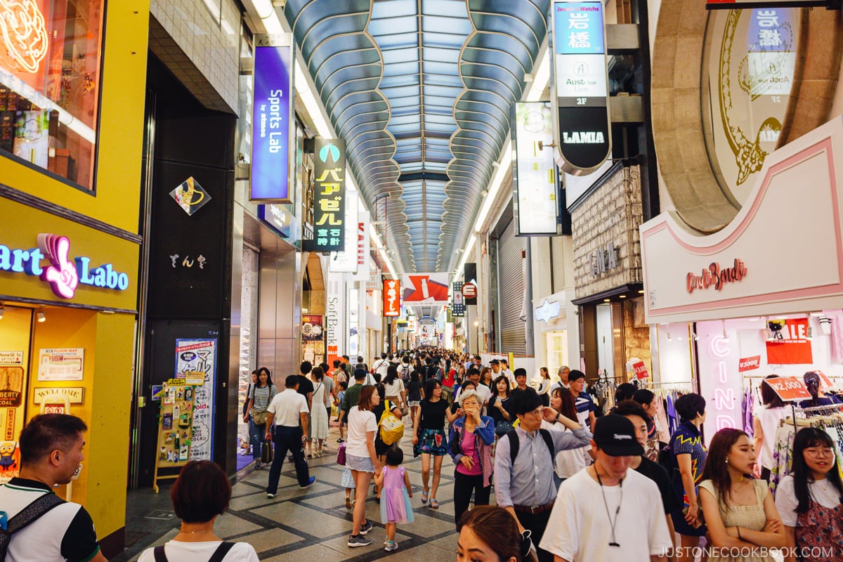
<instances>
[{"instance_id":1,"label":"yellow display rack of small colourful cards standing on the floor","mask_svg":"<svg viewBox=\"0 0 843 562\"><path fill-rule=\"evenodd\" d=\"M160 469L180 468L193 457L193 420L196 393L201 388L183 378L171 378L162 388L158 414L158 444L155 447L153 490L158 494L158 480L175 479L176 474L159 474Z\"/></svg>"}]
</instances>

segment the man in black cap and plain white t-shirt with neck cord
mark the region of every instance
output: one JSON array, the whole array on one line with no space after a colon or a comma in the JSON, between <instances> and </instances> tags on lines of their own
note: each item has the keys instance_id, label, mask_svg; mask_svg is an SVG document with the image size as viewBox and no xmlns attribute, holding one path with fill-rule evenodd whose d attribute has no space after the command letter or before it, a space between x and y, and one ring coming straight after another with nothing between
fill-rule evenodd
<instances>
[{"instance_id":1,"label":"man in black cap and plain white t-shirt with neck cord","mask_svg":"<svg viewBox=\"0 0 843 562\"><path fill-rule=\"evenodd\" d=\"M658 486L628 470L644 454L635 427L621 415L597 420L593 465L559 486L540 547L560 560L651 562L668 559L673 548L662 506L652 498Z\"/></svg>"}]
</instances>

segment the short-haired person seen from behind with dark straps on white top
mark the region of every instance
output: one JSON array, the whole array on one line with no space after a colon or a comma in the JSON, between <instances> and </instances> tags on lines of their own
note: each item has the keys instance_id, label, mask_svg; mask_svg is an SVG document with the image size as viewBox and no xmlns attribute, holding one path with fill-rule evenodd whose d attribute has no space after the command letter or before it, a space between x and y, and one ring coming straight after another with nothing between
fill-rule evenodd
<instances>
[{"instance_id":1,"label":"short-haired person seen from behind with dark straps on white top","mask_svg":"<svg viewBox=\"0 0 843 562\"><path fill-rule=\"evenodd\" d=\"M164 559L175 562L258 562L249 543L223 543L213 532L218 515L228 510L231 482L223 469L211 461L185 464L169 490L173 511L181 528L164 546L144 550L137 562L154 562L155 549L163 549Z\"/></svg>"}]
</instances>

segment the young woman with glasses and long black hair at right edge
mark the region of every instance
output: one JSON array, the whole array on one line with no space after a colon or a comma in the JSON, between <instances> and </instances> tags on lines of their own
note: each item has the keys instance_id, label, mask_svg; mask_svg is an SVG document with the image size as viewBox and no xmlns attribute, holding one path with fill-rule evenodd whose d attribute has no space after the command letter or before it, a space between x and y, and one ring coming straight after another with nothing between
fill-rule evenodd
<instances>
[{"instance_id":1,"label":"young woman with glasses and long black hair at right edge","mask_svg":"<svg viewBox=\"0 0 843 562\"><path fill-rule=\"evenodd\" d=\"M814 427L799 430L793 440L793 464L776 488L776 507L787 534L785 562L843 559L843 483L835 442Z\"/></svg>"}]
</instances>

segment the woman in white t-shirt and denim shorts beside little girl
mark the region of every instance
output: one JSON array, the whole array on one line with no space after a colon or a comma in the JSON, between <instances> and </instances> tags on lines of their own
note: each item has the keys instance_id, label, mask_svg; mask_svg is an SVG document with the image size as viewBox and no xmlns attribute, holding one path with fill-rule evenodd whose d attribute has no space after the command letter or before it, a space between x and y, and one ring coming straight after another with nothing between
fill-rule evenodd
<instances>
[{"instance_id":1,"label":"woman in white t-shirt and denim shorts beside little girl","mask_svg":"<svg viewBox=\"0 0 843 562\"><path fill-rule=\"evenodd\" d=\"M351 468L356 486L352 536L348 546L368 546L372 541L363 535L372 530L372 523L366 520L366 494L372 475L380 470L378 454L374 450L374 436L378 432L378 420L372 407L380 404L380 397L373 386L364 386L360 401L348 411L348 436L346 438L346 466Z\"/></svg>"}]
</instances>

